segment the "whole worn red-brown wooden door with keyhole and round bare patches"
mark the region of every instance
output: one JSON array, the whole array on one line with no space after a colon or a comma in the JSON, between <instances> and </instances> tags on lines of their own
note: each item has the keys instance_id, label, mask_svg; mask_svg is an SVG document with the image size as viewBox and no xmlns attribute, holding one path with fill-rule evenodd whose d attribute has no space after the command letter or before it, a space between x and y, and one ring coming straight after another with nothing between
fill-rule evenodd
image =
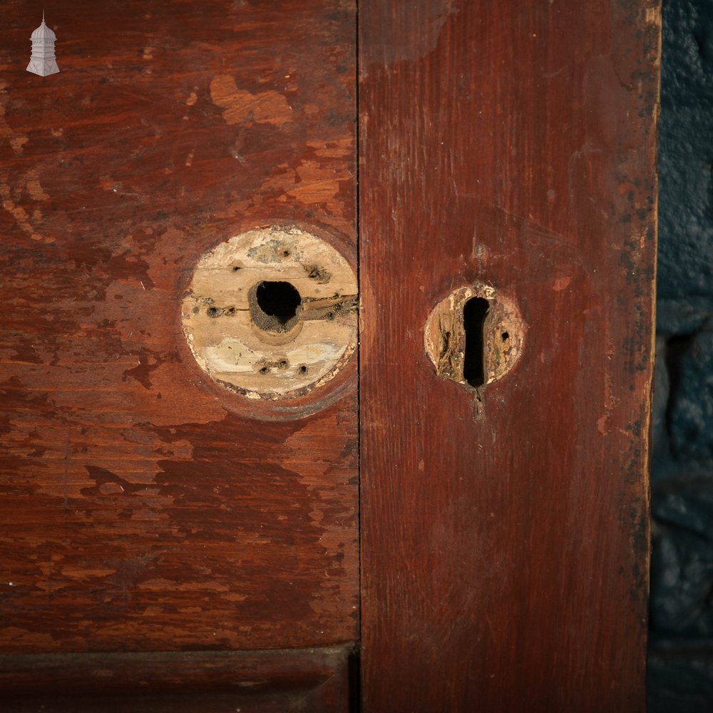
<instances>
[{"instance_id":1,"label":"whole worn red-brown wooden door with keyhole and round bare patches","mask_svg":"<svg viewBox=\"0 0 713 713\"><path fill-rule=\"evenodd\" d=\"M657 4L2 7L4 706L642 710Z\"/></svg>"}]
</instances>

